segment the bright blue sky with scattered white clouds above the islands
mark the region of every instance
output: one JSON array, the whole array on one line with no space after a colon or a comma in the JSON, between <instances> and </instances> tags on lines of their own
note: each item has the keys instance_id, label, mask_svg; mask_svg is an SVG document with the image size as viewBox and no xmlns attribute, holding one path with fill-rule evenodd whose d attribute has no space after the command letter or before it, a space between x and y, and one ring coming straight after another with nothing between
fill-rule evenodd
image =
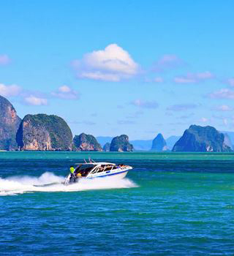
<instances>
[{"instance_id":1,"label":"bright blue sky with scattered white clouds above the islands","mask_svg":"<svg viewBox=\"0 0 234 256\"><path fill-rule=\"evenodd\" d=\"M234 1L0 3L0 95L73 135L234 130Z\"/></svg>"}]
</instances>

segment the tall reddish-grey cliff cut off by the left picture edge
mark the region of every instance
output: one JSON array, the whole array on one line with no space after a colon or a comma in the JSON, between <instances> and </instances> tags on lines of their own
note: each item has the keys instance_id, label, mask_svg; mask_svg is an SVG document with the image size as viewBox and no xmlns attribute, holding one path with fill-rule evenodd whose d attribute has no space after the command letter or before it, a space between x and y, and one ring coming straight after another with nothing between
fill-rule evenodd
<instances>
[{"instance_id":1,"label":"tall reddish-grey cliff cut off by the left picture edge","mask_svg":"<svg viewBox=\"0 0 234 256\"><path fill-rule=\"evenodd\" d=\"M0 149L15 150L18 148L16 132L21 119L17 116L15 108L4 97L0 96Z\"/></svg>"}]
</instances>

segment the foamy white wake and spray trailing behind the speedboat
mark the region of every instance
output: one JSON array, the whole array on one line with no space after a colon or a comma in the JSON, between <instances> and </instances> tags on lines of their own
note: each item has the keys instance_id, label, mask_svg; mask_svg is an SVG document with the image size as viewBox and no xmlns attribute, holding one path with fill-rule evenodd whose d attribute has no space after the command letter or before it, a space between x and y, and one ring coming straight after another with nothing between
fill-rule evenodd
<instances>
[{"instance_id":1,"label":"foamy white wake and spray trailing behind the speedboat","mask_svg":"<svg viewBox=\"0 0 234 256\"><path fill-rule=\"evenodd\" d=\"M64 186L64 177L53 173L43 173L42 176L12 176L0 178L0 196L18 195L25 192L74 192L91 189L122 189L137 187L129 178L116 179L105 177L81 180L76 184Z\"/></svg>"}]
</instances>

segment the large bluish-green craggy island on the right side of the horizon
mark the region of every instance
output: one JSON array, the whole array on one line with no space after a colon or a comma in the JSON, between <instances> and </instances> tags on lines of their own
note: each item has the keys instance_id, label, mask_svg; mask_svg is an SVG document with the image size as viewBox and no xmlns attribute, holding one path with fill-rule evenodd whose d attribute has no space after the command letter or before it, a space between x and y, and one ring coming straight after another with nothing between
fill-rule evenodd
<instances>
[{"instance_id":1,"label":"large bluish-green craggy island on the right side of the horizon","mask_svg":"<svg viewBox=\"0 0 234 256\"><path fill-rule=\"evenodd\" d=\"M232 149L224 143L224 134L214 127L191 125L176 142L173 151L230 152Z\"/></svg>"}]
</instances>

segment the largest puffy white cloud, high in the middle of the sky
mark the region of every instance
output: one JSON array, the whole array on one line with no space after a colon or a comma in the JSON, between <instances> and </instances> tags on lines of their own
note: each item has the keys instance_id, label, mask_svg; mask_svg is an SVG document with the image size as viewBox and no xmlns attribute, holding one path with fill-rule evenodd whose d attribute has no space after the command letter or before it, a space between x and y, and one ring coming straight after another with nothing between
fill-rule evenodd
<instances>
[{"instance_id":1,"label":"largest puffy white cloud, high in the middle of the sky","mask_svg":"<svg viewBox=\"0 0 234 256\"><path fill-rule=\"evenodd\" d=\"M116 44L86 53L83 59L72 61L72 67L78 78L94 80L119 81L132 78L139 72L139 65Z\"/></svg>"}]
</instances>

